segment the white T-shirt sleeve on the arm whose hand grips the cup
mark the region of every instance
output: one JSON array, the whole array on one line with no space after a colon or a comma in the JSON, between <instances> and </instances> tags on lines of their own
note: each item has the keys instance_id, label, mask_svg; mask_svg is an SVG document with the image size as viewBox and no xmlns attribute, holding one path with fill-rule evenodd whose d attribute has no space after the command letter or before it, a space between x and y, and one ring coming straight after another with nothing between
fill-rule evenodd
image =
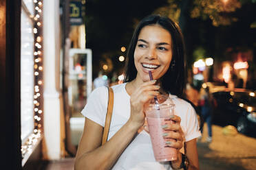
<instances>
[{"instance_id":1,"label":"white T-shirt sleeve on the arm whose hand grips the cup","mask_svg":"<svg viewBox=\"0 0 256 170\"><path fill-rule=\"evenodd\" d=\"M185 142L191 141L193 138L198 138L201 136L201 132L199 130L198 117L195 113L194 108L189 104L189 108L187 110L187 119L186 119L186 134L185 134Z\"/></svg>"}]
</instances>

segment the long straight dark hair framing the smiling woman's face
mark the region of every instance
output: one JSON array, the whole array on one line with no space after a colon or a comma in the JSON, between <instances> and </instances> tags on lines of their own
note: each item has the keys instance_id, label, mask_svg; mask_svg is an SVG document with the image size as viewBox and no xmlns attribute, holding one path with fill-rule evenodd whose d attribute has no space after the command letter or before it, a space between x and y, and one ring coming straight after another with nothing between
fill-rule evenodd
<instances>
[{"instance_id":1,"label":"long straight dark hair framing the smiling woman's face","mask_svg":"<svg viewBox=\"0 0 256 170\"><path fill-rule=\"evenodd\" d=\"M127 51L127 61L125 68L125 80L124 82L131 82L136 78L137 70L134 64L134 51L138 41L138 36L143 27L147 25L160 25L160 27L167 29L171 34L173 58L167 73L161 77L162 88L173 95L178 97L182 96L184 88L184 40L180 27L174 23L171 19L160 16L151 15L142 19L134 31L134 35L131 38L129 49Z\"/></svg>"}]
</instances>

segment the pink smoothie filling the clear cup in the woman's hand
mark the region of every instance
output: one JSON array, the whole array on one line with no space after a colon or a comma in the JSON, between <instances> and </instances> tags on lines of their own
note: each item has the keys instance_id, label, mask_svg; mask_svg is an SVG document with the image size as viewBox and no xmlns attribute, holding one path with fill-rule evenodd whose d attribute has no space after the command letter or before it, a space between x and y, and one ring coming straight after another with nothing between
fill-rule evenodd
<instances>
[{"instance_id":1,"label":"pink smoothie filling the clear cup in the woman's hand","mask_svg":"<svg viewBox=\"0 0 256 170\"><path fill-rule=\"evenodd\" d=\"M153 153L156 161L170 161L177 159L177 149L166 145L166 141L174 141L174 139L165 139L162 134L164 130L162 125L172 123L167 120L171 116L169 109L151 110L146 112L147 123L149 125L149 134L153 145ZM164 118L165 117L165 118Z\"/></svg>"}]
</instances>

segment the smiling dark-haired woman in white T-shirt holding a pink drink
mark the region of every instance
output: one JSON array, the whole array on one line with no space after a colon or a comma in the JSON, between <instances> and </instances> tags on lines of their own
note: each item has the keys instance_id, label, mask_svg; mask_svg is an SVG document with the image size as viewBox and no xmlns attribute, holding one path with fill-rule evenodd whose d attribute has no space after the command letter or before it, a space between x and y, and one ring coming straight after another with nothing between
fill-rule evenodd
<instances>
[{"instance_id":1,"label":"smiling dark-haired woman in white T-shirt holding a pink drink","mask_svg":"<svg viewBox=\"0 0 256 170\"><path fill-rule=\"evenodd\" d=\"M149 80L149 71L153 81ZM131 39L125 83L112 86L114 109L105 145L101 146L101 139L107 88L94 90L82 111L85 128L75 169L179 169L184 167L184 158L189 160L189 169L199 169L198 120L191 105L179 98L183 86L184 45L180 29L168 18L148 16L139 23ZM144 106L160 90L170 93L175 104L175 123L164 129L168 132L164 138L175 139L169 146L177 148L178 159L171 162L156 162L149 134L143 129Z\"/></svg>"}]
</instances>

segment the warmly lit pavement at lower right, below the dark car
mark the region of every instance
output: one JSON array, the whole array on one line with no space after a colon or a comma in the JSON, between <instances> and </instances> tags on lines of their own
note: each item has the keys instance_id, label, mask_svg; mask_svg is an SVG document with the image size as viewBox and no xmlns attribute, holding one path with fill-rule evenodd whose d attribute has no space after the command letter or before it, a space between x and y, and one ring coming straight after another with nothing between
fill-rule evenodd
<instances>
[{"instance_id":1,"label":"warmly lit pavement at lower right, below the dark car","mask_svg":"<svg viewBox=\"0 0 256 170\"><path fill-rule=\"evenodd\" d=\"M213 141L206 143L207 127L204 125L202 141L198 141L200 169L256 169L256 138L223 132L223 127L213 125Z\"/></svg>"}]
</instances>

